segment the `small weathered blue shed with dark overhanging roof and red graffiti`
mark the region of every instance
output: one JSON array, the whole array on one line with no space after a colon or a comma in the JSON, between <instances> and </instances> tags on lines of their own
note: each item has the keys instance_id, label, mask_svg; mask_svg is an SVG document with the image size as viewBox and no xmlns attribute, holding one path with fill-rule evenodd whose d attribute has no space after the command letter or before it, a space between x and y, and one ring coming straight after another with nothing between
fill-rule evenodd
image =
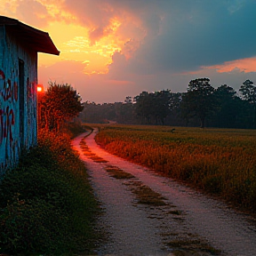
<instances>
[{"instance_id":1,"label":"small weathered blue shed with dark overhanging roof and red graffiti","mask_svg":"<svg viewBox=\"0 0 256 256\"><path fill-rule=\"evenodd\" d=\"M0 16L0 177L36 145L37 52L60 54L48 33Z\"/></svg>"}]
</instances>

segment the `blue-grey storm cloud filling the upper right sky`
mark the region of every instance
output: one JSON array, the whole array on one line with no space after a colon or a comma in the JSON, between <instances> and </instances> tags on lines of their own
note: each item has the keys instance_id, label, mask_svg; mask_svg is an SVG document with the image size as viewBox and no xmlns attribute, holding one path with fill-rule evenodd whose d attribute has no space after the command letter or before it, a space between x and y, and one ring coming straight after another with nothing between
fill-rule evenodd
<instances>
[{"instance_id":1,"label":"blue-grey storm cloud filling the upper right sky","mask_svg":"<svg viewBox=\"0 0 256 256\"><path fill-rule=\"evenodd\" d=\"M256 55L256 1L187 3L163 4L162 34L145 38L133 70L140 70L141 58L148 72L177 72Z\"/></svg>"}]
</instances>

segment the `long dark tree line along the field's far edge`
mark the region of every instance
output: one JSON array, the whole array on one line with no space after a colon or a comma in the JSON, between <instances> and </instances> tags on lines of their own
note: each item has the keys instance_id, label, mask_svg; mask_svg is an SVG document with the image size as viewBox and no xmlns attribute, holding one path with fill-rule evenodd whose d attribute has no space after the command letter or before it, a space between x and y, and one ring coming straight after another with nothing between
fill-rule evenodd
<instances>
[{"instance_id":1,"label":"long dark tree line along the field's far edge","mask_svg":"<svg viewBox=\"0 0 256 256\"><path fill-rule=\"evenodd\" d=\"M164 124L219 128L256 128L256 85L246 80L238 92L227 84L213 88L209 78L197 78L187 92L141 92L124 102L84 102L86 123Z\"/></svg>"}]
</instances>

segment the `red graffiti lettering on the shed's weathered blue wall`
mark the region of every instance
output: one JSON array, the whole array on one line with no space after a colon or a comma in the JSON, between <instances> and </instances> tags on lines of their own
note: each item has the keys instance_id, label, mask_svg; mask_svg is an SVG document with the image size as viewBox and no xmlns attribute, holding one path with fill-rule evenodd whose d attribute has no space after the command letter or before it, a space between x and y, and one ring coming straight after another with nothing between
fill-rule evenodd
<instances>
[{"instance_id":1,"label":"red graffiti lettering on the shed's weathered blue wall","mask_svg":"<svg viewBox=\"0 0 256 256\"><path fill-rule=\"evenodd\" d=\"M10 79L5 80L4 71L0 69L0 98L4 102L15 102L18 100L18 84L16 82L11 82ZM1 102L3 102L1 100ZM7 104L0 105L0 146L4 139L10 141L12 145L12 126L15 124L15 113L12 107Z\"/></svg>"}]
</instances>

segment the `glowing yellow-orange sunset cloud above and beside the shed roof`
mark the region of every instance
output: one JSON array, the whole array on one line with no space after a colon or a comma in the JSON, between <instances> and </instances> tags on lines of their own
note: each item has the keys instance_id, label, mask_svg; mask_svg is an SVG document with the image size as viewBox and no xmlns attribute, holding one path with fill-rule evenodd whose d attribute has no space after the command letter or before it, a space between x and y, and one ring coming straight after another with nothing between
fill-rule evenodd
<instances>
[{"instance_id":1,"label":"glowing yellow-orange sunset cloud above and beside the shed roof","mask_svg":"<svg viewBox=\"0 0 256 256\"><path fill-rule=\"evenodd\" d=\"M132 10L100 0L1 0L0 12L50 34L60 57L40 53L39 66L80 61L87 75L108 73L115 52L131 59L147 34Z\"/></svg>"}]
</instances>

